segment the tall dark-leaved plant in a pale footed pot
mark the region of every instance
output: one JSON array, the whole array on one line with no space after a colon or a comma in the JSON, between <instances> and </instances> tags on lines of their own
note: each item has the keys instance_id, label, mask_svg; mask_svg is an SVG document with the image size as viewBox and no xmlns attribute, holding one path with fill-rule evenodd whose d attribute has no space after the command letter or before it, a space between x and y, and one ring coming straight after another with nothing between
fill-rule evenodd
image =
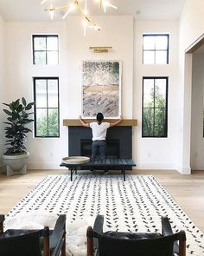
<instances>
[{"instance_id":1,"label":"tall dark-leaved plant in a pale footed pot","mask_svg":"<svg viewBox=\"0 0 204 256\"><path fill-rule=\"evenodd\" d=\"M5 129L6 143L8 146L3 154L3 162L6 165L7 175L26 174L29 153L26 151L25 138L32 130L26 127L34 121L29 118L33 112L29 110L33 107L34 102L27 103L25 98L17 99L10 104L3 103L8 109L3 109L7 117Z\"/></svg>"}]
</instances>

